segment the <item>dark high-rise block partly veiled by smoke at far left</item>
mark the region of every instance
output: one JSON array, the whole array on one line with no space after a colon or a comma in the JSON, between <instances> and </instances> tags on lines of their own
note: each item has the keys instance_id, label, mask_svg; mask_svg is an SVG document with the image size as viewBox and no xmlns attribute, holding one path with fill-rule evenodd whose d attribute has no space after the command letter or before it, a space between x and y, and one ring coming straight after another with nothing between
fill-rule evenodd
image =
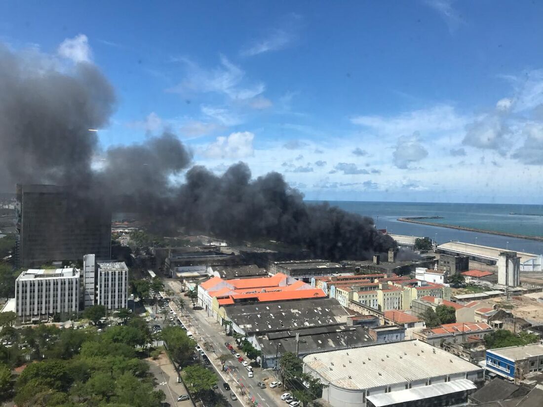
<instances>
[{"instance_id":1,"label":"dark high-rise block partly veiled by smoke at far left","mask_svg":"<svg viewBox=\"0 0 543 407\"><path fill-rule=\"evenodd\" d=\"M17 259L23 267L111 258L111 212L55 185L17 185Z\"/></svg>"}]
</instances>

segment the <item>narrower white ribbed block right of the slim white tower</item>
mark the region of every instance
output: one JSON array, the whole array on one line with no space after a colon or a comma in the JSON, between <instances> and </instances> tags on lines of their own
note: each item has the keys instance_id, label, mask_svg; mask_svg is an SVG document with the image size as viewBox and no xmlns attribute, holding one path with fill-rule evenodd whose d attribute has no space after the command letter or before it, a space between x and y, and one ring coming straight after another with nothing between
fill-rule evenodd
<instances>
[{"instance_id":1,"label":"narrower white ribbed block right of the slim white tower","mask_svg":"<svg viewBox=\"0 0 543 407\"><path fill-rule=\"evenodd\" d=\"M128 267L124 262L98 263L96 304L107 309L128 306Z\"/></svg>"}]
</instances>

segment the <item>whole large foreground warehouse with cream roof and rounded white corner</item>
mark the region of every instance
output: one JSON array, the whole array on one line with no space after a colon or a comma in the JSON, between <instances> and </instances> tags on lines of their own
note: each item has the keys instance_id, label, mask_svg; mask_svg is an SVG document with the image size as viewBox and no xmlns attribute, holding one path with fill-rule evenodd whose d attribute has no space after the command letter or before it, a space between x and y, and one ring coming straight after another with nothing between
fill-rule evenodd
<instances>
[{"instance_id":1,"label":"whole large foreground warehouse with cream roof and rounded white corner","mask_svg":"<svg viewBox=\"0 0 543 407\"><path fill-rule=\"evenodd\" d=\"M424 342L402 341L306 355L332 407L449 406L467 401L480 367Z\"/></svg>"}]
</instances>

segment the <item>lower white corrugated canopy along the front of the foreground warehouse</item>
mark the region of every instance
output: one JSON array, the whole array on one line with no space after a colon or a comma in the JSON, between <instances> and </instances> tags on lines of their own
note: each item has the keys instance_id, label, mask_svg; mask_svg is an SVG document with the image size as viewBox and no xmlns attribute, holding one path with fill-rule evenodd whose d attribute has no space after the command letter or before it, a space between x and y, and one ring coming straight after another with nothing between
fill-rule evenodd
<instances>
[{"instance_id":1,"label":"lower white corrugated canopy along the front of the foreground warehouse","mask_svg":"<svg viewBox=\"0 0 543 407\"><path fill-rule=\"evenodd\" d=\"M375 407L384 407L396 403L412 402L414 400L423 400L438 396L445 396L460 391L477 389L471 380L459 379L448 381L447 383L436 383L430 386L415 387L414 389L393 391L381 395L368 396L368 400Z\"/></svg>"}]
</instances>

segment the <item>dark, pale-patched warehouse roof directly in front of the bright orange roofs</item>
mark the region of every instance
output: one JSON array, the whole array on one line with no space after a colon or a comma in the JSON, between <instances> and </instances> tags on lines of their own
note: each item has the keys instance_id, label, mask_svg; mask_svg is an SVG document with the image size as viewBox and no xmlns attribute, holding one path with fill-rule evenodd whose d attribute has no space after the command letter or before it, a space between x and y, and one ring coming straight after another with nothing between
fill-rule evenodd
<instances>
[{"instance_id":1,"label":"dark, pale-patched warehouse roof directly in front of the bright orange roofs","mask_svg":"<svg viewBox=\"0 0 543 407\"><path fill-rule=\"evenodd\" d=\"M239 303L226 315L245 332L271 332L345 323L349 311L335 298Z\"/></svg>"}]
</instances>

